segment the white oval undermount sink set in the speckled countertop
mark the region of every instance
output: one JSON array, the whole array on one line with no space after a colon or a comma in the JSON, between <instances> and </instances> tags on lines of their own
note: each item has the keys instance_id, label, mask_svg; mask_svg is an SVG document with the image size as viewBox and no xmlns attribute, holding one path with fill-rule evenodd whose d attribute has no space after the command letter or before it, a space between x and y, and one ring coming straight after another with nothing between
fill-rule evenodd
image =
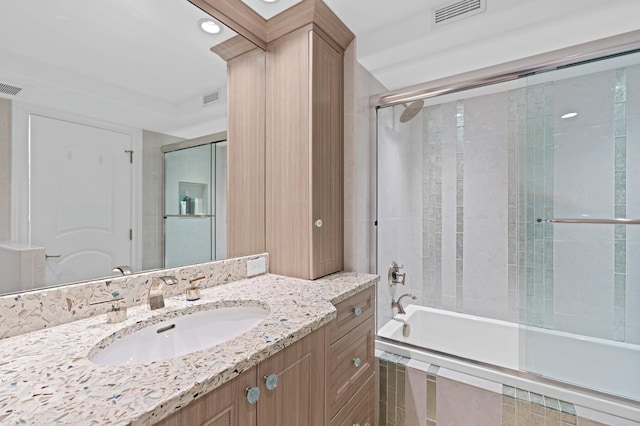
<instances>
[{"instance_id":1,"label":"white oval undermount sink set in the speckled countertop","mask_svg":"<svg viewBox=\"0 0 640 426\"><path fill-rule=\"evenodd\" d=\"M172 317L116 339L89 359L101 365L149 364L209 348L260 324L270 311L222 307Z\"/></svg>"}]
</instances>

